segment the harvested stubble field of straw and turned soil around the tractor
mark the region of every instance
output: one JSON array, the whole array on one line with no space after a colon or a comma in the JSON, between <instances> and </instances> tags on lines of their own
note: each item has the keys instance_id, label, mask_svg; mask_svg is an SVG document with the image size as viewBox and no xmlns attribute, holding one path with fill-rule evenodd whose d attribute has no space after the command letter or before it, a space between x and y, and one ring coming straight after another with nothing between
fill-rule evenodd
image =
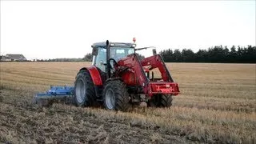
<instances>
[{"instance_id":1,"label":"harvested stubble field of straw and turned soil around the tractor","mask_svg":"<svg viewBox=\"0 0 256 144\"><path fill-rule=\"evenodd\" d=\"M0 142L256 143L255 64L167 63L182 92L167 109L31 104L50 85L73 86L89 65L1 62Z\"/></svg>"}]
</instances>

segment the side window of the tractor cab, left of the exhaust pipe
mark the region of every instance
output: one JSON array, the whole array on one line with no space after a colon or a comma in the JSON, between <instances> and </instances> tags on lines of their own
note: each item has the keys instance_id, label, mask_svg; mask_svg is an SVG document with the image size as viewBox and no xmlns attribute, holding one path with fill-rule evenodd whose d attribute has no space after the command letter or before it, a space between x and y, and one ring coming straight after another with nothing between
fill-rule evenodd
<instances>
[{"instance_id":1,"label":"side window of the tractor cab, left of the exhaust pipe","mask_svg":"<svg viewBox=\"0 0 256 144\"><path fill-rule=\"evenodd\" d=\"M105 71L105 65L106 63L106 49L104 48L98 48L98 55L95 61L95 66L97 66L100 70Z\"/></svg>"}]
</instances>

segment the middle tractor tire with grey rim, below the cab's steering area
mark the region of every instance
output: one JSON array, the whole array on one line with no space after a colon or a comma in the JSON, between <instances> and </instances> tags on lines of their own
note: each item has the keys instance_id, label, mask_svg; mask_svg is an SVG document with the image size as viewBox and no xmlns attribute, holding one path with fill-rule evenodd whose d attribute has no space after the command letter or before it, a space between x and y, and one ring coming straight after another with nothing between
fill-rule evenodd
<instances>
[{"instance_id":1,"label":"middle tractor tire with grey rim, below the cab's steering area","mask_svg":"<svg viewBox=\"0 0 256 144\"><path fill-rule=\"evenodd\" d=\"M102 97L107 110L126 111L129 108L129 94L126 84L121 80L116 79L106 82Z\"/></svg>"}]
</instances>

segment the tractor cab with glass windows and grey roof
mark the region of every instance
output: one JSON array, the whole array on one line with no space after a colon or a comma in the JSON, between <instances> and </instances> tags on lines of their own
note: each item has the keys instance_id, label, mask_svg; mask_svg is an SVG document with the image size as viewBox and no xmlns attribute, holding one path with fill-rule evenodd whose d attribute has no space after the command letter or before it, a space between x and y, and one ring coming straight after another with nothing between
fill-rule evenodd
<instances>
[{"instance_id":1,"label":"tractor cab with glass windows and grey roof","mask_svg":"<svg viewBox=\"0 0 256 144\"><path fill-rule=\"evenodd\" d=\"M134 54L136 44L122 42L97 42L91 47L93 48L92 65L106 72L107 61L114 59L118 62L121 58L125 58L129 54ZM107 52L109 50L109 52Z\"/></svg>"}]
</instances>

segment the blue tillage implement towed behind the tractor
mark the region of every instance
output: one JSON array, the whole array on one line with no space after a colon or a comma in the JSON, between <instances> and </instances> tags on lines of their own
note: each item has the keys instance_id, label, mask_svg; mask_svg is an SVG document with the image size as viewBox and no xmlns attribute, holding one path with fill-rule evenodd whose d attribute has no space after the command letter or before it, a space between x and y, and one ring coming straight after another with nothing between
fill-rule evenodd
<instances>
[{"instance_id":1,"label":"blue tillage implement towed behind the tractor","mask_svg":"<svg viewBox=\"0 0 256 144\"><path fill-rule=\"evenodd\" d=\"M70 98L73 97L73 95L73 86L50 86L50 90L45 93L35 94L34 100L38 102L39 99Z\"/></svg>"}]
</instances>

